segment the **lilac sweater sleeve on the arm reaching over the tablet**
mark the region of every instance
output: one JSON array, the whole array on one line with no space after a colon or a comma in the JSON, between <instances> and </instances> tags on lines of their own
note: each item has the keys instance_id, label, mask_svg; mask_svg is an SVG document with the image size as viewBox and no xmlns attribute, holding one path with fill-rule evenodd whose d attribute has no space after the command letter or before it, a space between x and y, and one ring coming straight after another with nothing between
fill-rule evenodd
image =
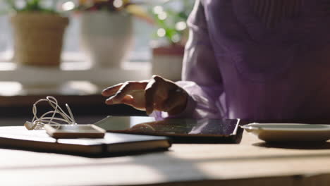
<instances>
[{"instance_id":1,"label":"lilac sweater sleeve on the arm reaching over the tablet","mask_svg":"<svg viewBox=\"0 0 330 186\"><path fill-rule=\"evenodd\" d=\"M222 118L226 112L220 104L224 89L200 0L190 13L188 27L190 35L185 46L182 81L176 82L188 92L188 104L182 113L170 117ZM158 111L152 115L159 119L168 117L167 113Z\"/></svg>"}]
</instances>

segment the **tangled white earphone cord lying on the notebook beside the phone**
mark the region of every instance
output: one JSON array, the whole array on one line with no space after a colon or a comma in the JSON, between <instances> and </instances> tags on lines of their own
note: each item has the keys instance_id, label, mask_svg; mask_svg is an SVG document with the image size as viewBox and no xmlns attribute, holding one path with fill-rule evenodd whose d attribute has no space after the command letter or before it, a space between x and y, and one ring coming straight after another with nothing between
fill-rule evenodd
<instances>
[{"instance_id":1,"label":"tangled white earphone cord lying on the notebook beside the phone","mask_svg":"<svg viewBox=\"0 0 330 186\"><path fill-rule=\"evenodd\" d=\"M54 111L48 111L42 114L42 116L38 117L37 104L39 104L39 102L42 101L47 101L49 105L54 109ZM38 101L35 102L35 104L33 104L32 107L32 113L33 113L32 121L25 122L24 124L25 128L27 128L27 130L39 130L42 129L45 124L62 125L62 123L59 122L65 122L66 124L69 125L76 125L77 123L75 122L75 118L73 117L73 114L68 104L66 104L66 109L68 110L68 114L65 111L63 111L63 109L61 108L61 106L59 106L57 100L54 97L49 96L46 97L46 99L39 99ZM55 117L56 113L59 114L62 118Z\"/></svg>"}]
</instances>

